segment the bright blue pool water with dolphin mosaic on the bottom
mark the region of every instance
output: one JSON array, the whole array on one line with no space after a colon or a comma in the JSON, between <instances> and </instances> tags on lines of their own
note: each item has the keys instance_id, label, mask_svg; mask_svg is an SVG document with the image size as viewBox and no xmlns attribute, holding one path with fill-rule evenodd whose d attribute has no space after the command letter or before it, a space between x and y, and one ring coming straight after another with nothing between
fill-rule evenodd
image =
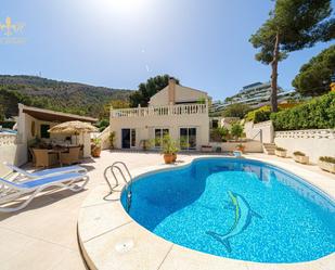
<instances>
[{"instance_id":1,"label":"bright blue pool water with dolphin mosaic on the bottom","mask_svg":"<svg viewBox=\"0 0 335 270\"><path fill-rule=\"evenodd\" d=\"M298 262L335 252L335 203L261 162L203 158L132 184L129 215L181 246L260 262ZM126 192L121 202L125 206Z\"/></svg>"}]
</instances>

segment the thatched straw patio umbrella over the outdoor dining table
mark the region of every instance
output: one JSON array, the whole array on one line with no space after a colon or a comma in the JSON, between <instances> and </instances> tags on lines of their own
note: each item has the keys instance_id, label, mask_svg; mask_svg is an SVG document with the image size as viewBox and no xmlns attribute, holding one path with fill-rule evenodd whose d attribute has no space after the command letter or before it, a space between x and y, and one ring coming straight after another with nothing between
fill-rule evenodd
<instances>
[{"instance_id":1,"label":"thatched straw patio umbrella over the outdoor dining table","mask_svg":"<svg viewBox=\"0 0 335 270\"><path fill-rule=\"evenodd\" d=\"M99 129L89 123L85 121L64 121L56 126L53 126L48 130L50 133L63 133L63 134L75 134L85 132L98 132Z\"/></svg>"}]
</instances>

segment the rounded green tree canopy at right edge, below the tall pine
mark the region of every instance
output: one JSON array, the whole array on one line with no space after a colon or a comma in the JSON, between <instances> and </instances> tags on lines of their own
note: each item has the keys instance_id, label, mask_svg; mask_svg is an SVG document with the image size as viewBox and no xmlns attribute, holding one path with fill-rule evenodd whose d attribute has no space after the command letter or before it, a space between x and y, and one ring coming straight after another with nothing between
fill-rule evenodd
<instances>
[{"instance_id":1,"label":"rounded green tree canopy at right edge, below the tall pine","mask_svg":"<svg viewBox=\"0 0 335 270\"><path fill-rule=\"evenodd\" d=\"M302 65L292 85L302 95L321 95L331 90L334 73L335 46L331 46Z\"/></svg>"}]
</instances>

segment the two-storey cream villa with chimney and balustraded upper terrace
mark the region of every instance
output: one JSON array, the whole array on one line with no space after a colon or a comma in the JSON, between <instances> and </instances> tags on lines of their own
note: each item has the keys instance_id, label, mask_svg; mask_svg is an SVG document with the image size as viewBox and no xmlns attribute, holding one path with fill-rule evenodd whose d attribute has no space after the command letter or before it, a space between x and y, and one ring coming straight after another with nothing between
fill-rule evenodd
<instances>
[{"instance_id":1,"label":"two-storey cream villa with chimney and balustraded upper terrace","mask_svg":"<svg viewBox=\"0 0 335 270\"><path fill-rule=\"evenodd\" d=\"M170 78L168 86L150 99L147 107L111 108L115 147L142 149L145 141L169 134L185 142L183 150L199 150L209 142L209 99L206 92L177 85ZM159 142L155 144L160 146Z\"/></svg>"}]
</instances>

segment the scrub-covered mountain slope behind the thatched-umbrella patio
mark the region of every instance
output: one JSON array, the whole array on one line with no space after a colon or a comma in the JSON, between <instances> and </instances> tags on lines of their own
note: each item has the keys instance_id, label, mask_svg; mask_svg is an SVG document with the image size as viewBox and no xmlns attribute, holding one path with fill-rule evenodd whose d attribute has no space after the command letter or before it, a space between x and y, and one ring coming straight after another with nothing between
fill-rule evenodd
<instances>
[{"instance_id":1,"label":"scrub-covered mountain slope behind the thatched-umbrella patio","mask_svg":"<svg viewBox=\"0 0 335 270\"><path fill-rule=\"evenodd\" d=\"M108 112L105 105L112 100L128 101L130 93L126 89L93 87L37 76L0 75L0 114L15 116L17 103L23 103L64 113L106 117Z\"/></svg>"}]
</instances>

